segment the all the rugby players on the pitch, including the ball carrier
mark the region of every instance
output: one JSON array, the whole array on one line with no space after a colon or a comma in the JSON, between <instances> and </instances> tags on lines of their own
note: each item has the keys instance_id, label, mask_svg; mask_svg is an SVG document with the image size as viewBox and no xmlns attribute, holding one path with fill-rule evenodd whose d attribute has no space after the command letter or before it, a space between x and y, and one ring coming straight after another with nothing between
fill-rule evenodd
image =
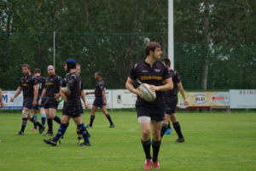
<instances>
[{"instance_id":1,"label":"all the rugby players on the pitch, including the ball carrier","mask_svg":"<svg viewBox=\"0 0 256 171\"><path fill-rule=\"evenodd\" d=\"M178 89L183 95L185 105L188 105L188 101L184 94L180 75L177 71L170 69L171 61L168 59L160 60L160 56L162 54L160 44L155 42L148 43L145 47L145 53L145 60L135 64L131 68L125 87L129 89L131 93L137 94L137 118L142 131L141 142L146 156L143 168L145 170L150 170L151 167L157 169L160 168L158 154L160 151L161 139L168 129L168 123L170 120L172 121L173 127L178 135L175 142L184 142L180 124L177 121L175 114ZM105 88L104 82L102 81L102 74L100 72L95 73L94 77L97 81L96 90L94 92L87 92L84 94L82 79L79 77L80 66L75 62L75 60L67 60L64 68L67 71L67 75L63 80L61 80L61 77L55 75L54 66L48 66L49 77L47 77L44 82L43 77L40 76L40 70L36 69L33 76L30 72L30 66L22 66L24 77L20 78L20 86L17 88L14 97L11 98L11 101L14 101L15 97L20 94L21 90L23 91L24 102L22 110L22 125L20 132L17 135L24 135L27 119L34 123L34 129L38 126L39 133L43 133L46 117L49 129L45 136L53 135L52 119L54 119L56 123L60 124L60 128L54 138L44 140L44 142L49 145L57 145L58 142L60 142L59 139L63 137L66 132L69 120L73 118L77 125L79 145L89 146L90 134L82 121L83 108L81 104L82 98L85 107L88 107L85 100L86 94L96 95L96 99L91 110L90 124L87 128L92 128L95 111L98 107L101 107L103 113L108 118L110 123L109 127L114 127L112 119L106 109ZM139 86L138 88L133 86L136 81L139 84L148 83L150 85L150 88L156 92L156 100L154 100L154 102L143 100L143 96L139 91ZM61 98L64 100L62 119L55 115L58 102ZM1 105L3 105L3 100ZM38 107L41 111L43 124L38 123L38 119L35 117ZM31 109L34 109L34 117L30 114ZM150 140L151 127L152 141ZM82 140L82 137L84 140ZM150 153L151 145L153 148L153 157L151 157Z\"/></svg>"}]
</instances>

